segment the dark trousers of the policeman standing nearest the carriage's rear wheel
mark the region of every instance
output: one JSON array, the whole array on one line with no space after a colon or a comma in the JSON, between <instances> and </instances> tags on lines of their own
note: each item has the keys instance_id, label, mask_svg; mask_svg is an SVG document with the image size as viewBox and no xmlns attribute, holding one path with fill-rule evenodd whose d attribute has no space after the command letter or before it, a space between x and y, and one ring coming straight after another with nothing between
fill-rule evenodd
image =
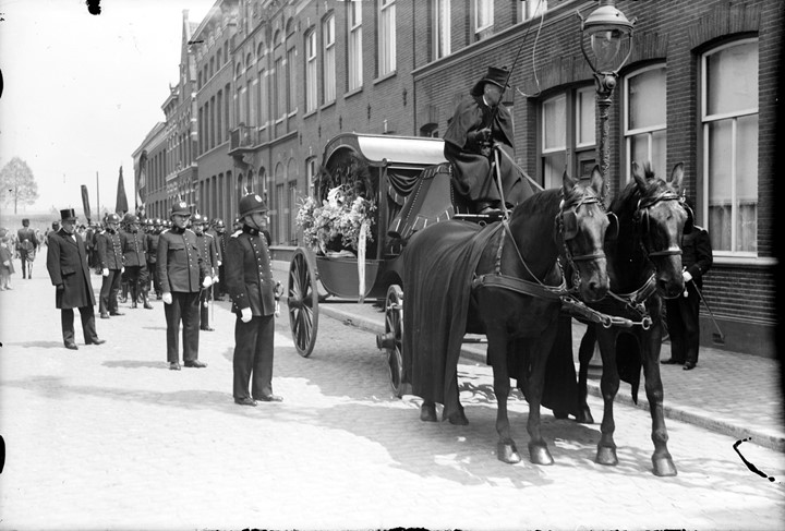
<instances>
[{"instance_id":1,"label":"dark trousers of the policeman standing nearest the carriage's rear wheel","mask_svg":"<svg viewBox=\"0 0 785 531\"><path fill-rule=\"evenodd\" d=\"M254 316L247 323L238 317L234 325L234 399L259 399L273 394L273 335L275 317Z\"/></svg>"}]
</instances>

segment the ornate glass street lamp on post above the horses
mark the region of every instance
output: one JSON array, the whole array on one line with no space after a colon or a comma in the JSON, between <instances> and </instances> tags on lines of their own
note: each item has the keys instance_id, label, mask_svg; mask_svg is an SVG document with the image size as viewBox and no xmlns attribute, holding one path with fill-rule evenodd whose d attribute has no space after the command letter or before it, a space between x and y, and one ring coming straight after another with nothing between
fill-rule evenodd
<instances>
[{"instance_id":1,"label":"ornate glass street lamp on post above the horses","mask_svg":"<svg viewBox=\"0 0 785 531\"><path fill-rule=\"evenodd\" d=\"M618 71L625 65L632 52L632 26L637 19L628 21L625 14L616 9L616 0L600 0L600 7L581 20L581 51L594 73L597 102L597 130L600 132L600 171L608 189L608 168L611 153L608 149L608 109L611 108L614 88L618 81ZM591 56L587 52L585 37L591 43ZM628 40L627 55L619 61L621 44Z\"/></svg>"}]
</instances>

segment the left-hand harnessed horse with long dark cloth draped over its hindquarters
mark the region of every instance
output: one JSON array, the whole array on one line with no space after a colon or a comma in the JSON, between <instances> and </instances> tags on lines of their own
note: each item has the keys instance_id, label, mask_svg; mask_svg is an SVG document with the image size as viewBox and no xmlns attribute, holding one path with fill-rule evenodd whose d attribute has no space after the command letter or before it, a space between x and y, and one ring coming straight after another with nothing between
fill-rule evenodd
<instances>
[{"instance_id":1,"label":"left-hand harnessed horse with long dark cloth draped over its hindquarters","mask_svg":"<svg viewBox=\"0 0 785 531\"><path fill-rule=\"evenodd\" d=\"M603 240L608 218L597 168L589 182L564 176L561 189L534 194L509 220L481 229L464 221L438 222L416 232L403 251L404 381L424 399L421 419L466 424L457 364L466 333L487 336L498 401L498 459L518 462L510 435L510 377L529 401L529 454L534 463L553 458L540 432L545 365L556 337L560 295L566 292L559 253L565 252L587 301L608 289Z\"/></svg>"}]
</instances>

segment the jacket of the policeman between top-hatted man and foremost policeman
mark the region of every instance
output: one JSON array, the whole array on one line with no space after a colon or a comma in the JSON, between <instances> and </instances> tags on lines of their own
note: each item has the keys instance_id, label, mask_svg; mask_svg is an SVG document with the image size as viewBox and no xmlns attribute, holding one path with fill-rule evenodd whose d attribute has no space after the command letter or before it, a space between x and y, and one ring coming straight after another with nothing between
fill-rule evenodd
<instances>
[{"instance_id":1,"label":"jacket of the policeman between top-hatted man and foremost policeman","mask_svg":"<svg viewBox=\"0 0 785 531\"><path fill-rule=\"evenodd\" d=\"M190 229L172 227L161 232L156 254L156 270L165 293L197 292L202 279L210 274L202 260L196 234Z\"/></svg>"}]
</instances>

